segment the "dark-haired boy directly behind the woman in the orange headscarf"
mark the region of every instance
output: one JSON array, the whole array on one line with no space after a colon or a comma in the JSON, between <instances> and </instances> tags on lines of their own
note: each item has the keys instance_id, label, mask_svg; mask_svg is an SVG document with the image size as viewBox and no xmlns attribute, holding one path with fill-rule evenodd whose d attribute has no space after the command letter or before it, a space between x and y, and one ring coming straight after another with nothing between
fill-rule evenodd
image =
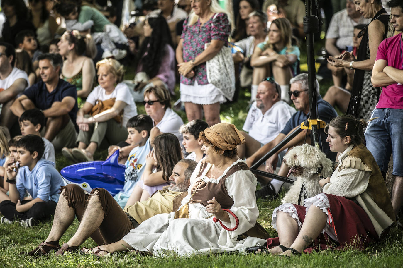
<instances>
[{"instance_id":1,"label":"dark-haired boy directly behind the woman in the orange headscarf","mask_svg":"<svg viewBox=\"0 0 403 268\"><path fill-rule=\"evenodd\" d=\"M179 129L183 135L182 144L185 147L185 151L189 153L186 159L195 160L199 163L200 160L204 158L205 154L204 151L202 151L203 141L199 139L199 133L206 128L208 128L206 121L195 119L182 125Z\"/></svg>"}]
</instances>

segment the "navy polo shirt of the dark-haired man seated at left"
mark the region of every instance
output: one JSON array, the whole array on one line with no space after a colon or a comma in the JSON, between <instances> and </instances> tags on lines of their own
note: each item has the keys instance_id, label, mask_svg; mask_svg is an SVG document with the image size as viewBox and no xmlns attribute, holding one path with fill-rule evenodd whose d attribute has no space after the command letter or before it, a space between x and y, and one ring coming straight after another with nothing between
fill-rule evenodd
<instances>
[{"instance_id":1,"label":"navy polo shirt of the dark-haired man seated at left","mask_svg":"<svg viewBox=\"0 0 403 268\"><path fill-rule=\"evenodd\" d=\"M27 88L24 93L35 105L36 108L40 110L46 110L52 107L53 102L62 101L62 99L66 96L73 97L76 102L74 104L73 109L69 112L69 117L73 124L76 124L77 117L77 88L73 86L69 82L64 81L59 78L59 82L57 83L56 88L49 92L46 89L46 84L43 81L40 81L29 88Z\"/></svg>"}]
</instances>

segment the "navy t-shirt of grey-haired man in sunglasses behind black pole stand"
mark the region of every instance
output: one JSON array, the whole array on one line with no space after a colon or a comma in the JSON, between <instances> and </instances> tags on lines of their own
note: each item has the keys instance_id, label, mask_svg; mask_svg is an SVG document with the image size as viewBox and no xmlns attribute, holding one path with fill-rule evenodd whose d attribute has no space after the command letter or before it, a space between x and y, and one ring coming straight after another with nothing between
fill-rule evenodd
<instances>
[{"instance_id":1,"label":"navy t-shirt of grey-haired man in sunglasses behind black pole stand","mask_svg":"<svg viewBox=\"0 0 403 268\"><path fill-rule=\"evenodd\" d=\"M326 123L329 123L330 119L337 117L336 110L326 101L322 100L321 96L317 97L318 100L318 117L320 120L325 121ZM301 125L301 123L309 118L309 113L308 115L305 115L303 112L298 111L295 113L291 119L287 122L285 125L284 129L280 132L285 135L287 135L291 130L293 130L295 127ZM326 141L327 135L324 132L324 129L319 130L319 139L320 142L322 143L322 151L326 153L326 157L329 158L330 160L334 161L336 160L336 155L337 152L332 152L330 151L329 148L329 143Z\"/></svg>"}]
</instances>

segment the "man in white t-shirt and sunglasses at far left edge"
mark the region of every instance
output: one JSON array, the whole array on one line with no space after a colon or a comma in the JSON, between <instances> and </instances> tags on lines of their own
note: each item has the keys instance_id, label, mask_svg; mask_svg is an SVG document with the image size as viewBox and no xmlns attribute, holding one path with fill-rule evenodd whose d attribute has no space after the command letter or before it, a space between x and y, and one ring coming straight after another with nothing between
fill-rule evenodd
<instances>
[{"instance_id":1,"label":"man in white t-shirt and sunglasses at far left edge","mask_svg":"<svg viewBox=\"0 0 403 268\"><path fill-rule=\"evenodd\" d=\"M14 67L14 47L0 43L0 125L11 129L17 117L10 111L16 96L29 86L27 73Z\"/></svg>"}]
</instances>

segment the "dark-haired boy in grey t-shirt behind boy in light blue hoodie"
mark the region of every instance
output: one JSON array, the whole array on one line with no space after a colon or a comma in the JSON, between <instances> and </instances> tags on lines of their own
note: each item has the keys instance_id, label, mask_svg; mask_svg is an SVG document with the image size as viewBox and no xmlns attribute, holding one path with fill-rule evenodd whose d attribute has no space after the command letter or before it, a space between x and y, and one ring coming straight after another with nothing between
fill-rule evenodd
<instances>
[{"instance_id":1,"label":"dark-haired boy in grey t-shirt behind boy in light blue hoodie","mask_svg":"<svg viewBox=\"0 0 403 268\"><path fill-rule=\"evenodd\" d=\"M37 135L41 137L41 131L45 125L45 116L44 113L37 109L26 110L20 117L20 129L21 134L25 135ZM42 137L42 140L45 143L45 151L43 158L45 160L53 162L53 165L56 165L56 158L54 156L54 146L48 141L48 139Z\"/></svg>"}]
</instances>

